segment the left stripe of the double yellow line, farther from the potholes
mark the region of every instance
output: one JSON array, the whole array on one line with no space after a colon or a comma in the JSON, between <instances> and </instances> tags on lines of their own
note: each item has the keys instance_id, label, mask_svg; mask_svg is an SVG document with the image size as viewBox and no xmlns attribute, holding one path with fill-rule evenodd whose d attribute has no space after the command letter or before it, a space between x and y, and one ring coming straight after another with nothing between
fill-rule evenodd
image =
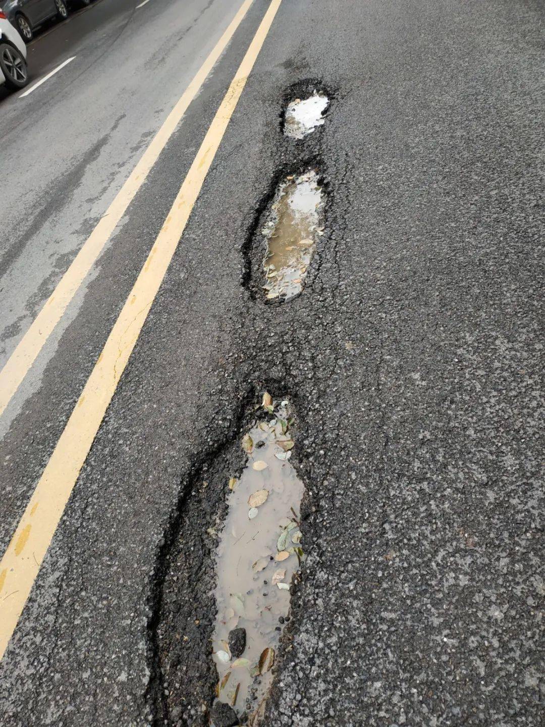
<instances>
[{"instance_id":1,"label":"left stripe of the double yellow line, farther from the potholes","mask_svg":"<svg viewBox=\"0 0 545 727\"><path fill-rule=\"evenodd\" d=\"M201 68L199 68L195 77L183 92L169 113L169 116L166 117L163 126L161 126L161 129L153 137L142 158L140 158L140 161L132 170L129 178L118 191L116 198L114 198L112 204L110 204L97 223L97 226L81 247L72 264L60 279L59 284L45 302L44 307L40 310L38 316L36 316L28 331L7 360L4 368L0 371L0 416L9 401L11 401L12 396L20 387L21 382L26 374L28 374L32 364L36 361L36 357L40 353L41 348L64 315L70 300L72 300L79 286L85 280L89 270L97 262L97 258L110 239L113 230L116 229L116 225L125 214L134 195L140 189L143 182L145 182L150 169L156 163L166 142L187 111L187 107L198 94L204 81L206 81L206 77L212 68L214 68L215 63L219 56L222 55L225 47L227 47L227 44L241 24L253 1L244 0L230 25L228 25L227 30L223 33L219 41L217 41L209 57L201 65Z\"/></svg>"}]
</instances>

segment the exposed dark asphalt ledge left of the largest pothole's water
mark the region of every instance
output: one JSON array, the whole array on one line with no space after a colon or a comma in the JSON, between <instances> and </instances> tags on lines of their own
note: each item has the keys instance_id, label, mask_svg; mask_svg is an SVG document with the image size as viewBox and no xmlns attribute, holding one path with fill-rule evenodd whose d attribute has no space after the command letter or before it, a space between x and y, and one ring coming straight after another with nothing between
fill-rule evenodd
<instances>
[{"instance_id":1,"label":"exposed dark asphalt ledge left of the largest pothole's water","mask_svg":"<svg viewBox=\"0 0 545 727\"><path fill-rule=\"evenodd\" d=\"M236 441L247 416L241 407L225 441L206 451L180 483L177 510L158 553L148 688L156 726L209 723L217 683L211 659L217 539L209 530L225 518L229 478L243 468L245 454Z\"/></svg>"}]
</instances>

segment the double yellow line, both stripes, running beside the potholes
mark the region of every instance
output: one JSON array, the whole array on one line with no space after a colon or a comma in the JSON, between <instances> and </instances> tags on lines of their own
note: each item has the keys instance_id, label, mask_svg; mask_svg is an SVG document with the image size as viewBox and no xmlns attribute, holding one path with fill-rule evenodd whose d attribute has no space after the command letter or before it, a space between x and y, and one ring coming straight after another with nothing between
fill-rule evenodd
<instances>
[{"instance_id":1,"label":"double yellow line, both stripes, running beside the potholes","mask_svg":"<svg viewBox=\"0 0 545 727\"><path fill-rule=\"evenodd\" d=\"M47 337L60 321L78 286L97 260L129 202L134 198L187 106L240 25L252 1L243 2L232 23L169 114L105 217L102 217L93 230L57 289L1 371L0 414L35 361ZM4 656L70 493L91 449L94 436L140 335L280 2L281 0L271 0L0 561L0 659Z\"/></svg>"}]
</instances>

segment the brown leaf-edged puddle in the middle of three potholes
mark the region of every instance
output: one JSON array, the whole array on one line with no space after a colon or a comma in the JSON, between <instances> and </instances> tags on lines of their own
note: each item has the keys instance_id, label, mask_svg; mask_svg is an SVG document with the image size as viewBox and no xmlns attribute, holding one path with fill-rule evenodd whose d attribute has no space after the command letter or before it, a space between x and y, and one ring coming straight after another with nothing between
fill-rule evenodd
<instances>
[{"instance_id":1,"label":"brown leaf-edged puddle in the middle of three potholes","mask_svg":"<svg viewBox=\"0 0 545 727\"><path fill-rule=\"evenodd\" d=\"M280 182L262 233L267 241L263 270L267 300L291 300L302 291L323 234L323 190L314 170Z\"/></svg>"}]
</instances>

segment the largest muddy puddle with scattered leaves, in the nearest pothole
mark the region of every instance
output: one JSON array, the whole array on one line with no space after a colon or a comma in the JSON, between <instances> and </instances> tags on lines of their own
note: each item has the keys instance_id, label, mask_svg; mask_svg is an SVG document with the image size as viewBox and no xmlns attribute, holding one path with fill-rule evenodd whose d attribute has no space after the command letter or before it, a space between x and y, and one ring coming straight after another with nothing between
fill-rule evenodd
<instances>
[{"instance_id":1,"label":"largest muddy puddle with scattered leaves, in the nearest pothole","mask_svg":"<svg viewBox=\"0 0 545 727\"><path fill-rule=\"evenodd\" d=\"M230 480L217 549L213 658L219 701L233 707L241 724L255 726L288 619L291 578L304 558L298 522L304 486L289 462L288 402L275 406L265 395L242 446L248 460L241 477Z\"/></svg>"}]
</instances>

